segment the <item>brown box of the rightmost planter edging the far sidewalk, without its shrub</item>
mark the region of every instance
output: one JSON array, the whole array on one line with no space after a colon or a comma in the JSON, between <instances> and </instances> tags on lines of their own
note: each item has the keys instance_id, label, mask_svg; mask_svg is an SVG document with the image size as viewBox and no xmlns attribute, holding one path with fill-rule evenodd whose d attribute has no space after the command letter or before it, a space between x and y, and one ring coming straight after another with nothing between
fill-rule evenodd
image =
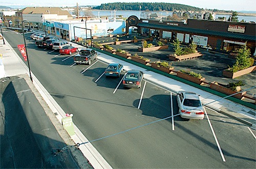
<instances>
[{"instance_id":1,"label":"brown box of the rightmost planter edging the far sidewalk, without its shrub","mask_svg":"<svg viewBox=\"0 0 256 169\"><path fill-rule=\"evenodd\" d=\"M234 93L237 93L236 91L232 91L231 89L226 88L225 85L222 85L220 83L215 84L215 81L210 83L210 89L216 90L226 95L232 95ZM236 95L233 95L233 97L236 97L238 99L243 99L244 98L243 95L245 94L246 94L246 91L244 91L243 93L238 93Z\"/></svg>"}]
</instances>

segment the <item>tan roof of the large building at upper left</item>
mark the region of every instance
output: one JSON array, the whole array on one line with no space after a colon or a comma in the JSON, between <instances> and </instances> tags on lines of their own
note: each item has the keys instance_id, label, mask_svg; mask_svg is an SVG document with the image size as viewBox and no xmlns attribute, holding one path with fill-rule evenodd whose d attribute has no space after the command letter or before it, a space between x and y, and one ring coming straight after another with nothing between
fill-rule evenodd
<instances>
[{"instance_id":1,"label":"tan roof of the large building at upper left","mask_svg":"<svg viewBox=\"0 0 256 169\"><path fill-rule=\"evenodd\" d=\"M57 14L57 15L67 15L72 17L72 15L67 10L61 10L59 7L26 7L22 10L17 11L17 13L23 14Z\"/></svg>"}]
</instances>

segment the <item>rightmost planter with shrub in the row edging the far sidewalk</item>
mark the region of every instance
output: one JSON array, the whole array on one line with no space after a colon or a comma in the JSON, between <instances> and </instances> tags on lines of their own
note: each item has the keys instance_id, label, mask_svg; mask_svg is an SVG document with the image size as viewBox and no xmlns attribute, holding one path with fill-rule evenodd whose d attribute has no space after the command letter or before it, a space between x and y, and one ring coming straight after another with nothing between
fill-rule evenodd
<instances>
[{"instance_id":1,"label":"rightmost planter with shrub in the row edging the far sidewalk","mask_svg":"<svg viewBox=\"0 0 256 169\"><path fill-rule=\"evenodd\" d=\"M238 82L231 82L228 83L228 85L223 85L221 83L218 83L216 81L210 83L210 89L219 91L221 93L224 93L226 95L232 95L235 93L238 93L236 95L233 95L233 97L236 97L238 99L243 99L246 94L246 91L241 92L241 86L244 86L244 83L240 80Z\"/></svg>"}]
</instances>

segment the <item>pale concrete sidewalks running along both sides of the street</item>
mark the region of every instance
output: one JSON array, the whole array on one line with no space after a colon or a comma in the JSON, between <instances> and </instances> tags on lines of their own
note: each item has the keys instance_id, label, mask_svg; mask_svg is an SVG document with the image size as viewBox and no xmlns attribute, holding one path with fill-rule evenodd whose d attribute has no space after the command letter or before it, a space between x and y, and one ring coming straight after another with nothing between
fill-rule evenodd
<instances>
[{"instance_id":1,"label":"pale concrete sidewalks running along both sides of the street","mask_svg":"<svg viewBox=\"0 0 256 169\"><path fill-rule=\"evenodd\" d=\"M72 46L76 46L79 49L84 48L83 46L80 46L75 43L72 43ZM22 59L18 57L17 53L11 48L8 42L6 42L6 44L3 45L3 42L0 41L0 53L3 54L3 64L5 66L4 69L5 69L6 77L15 76L15 75L24 74L24 73L28 74L27 66L24 64ZM234 119L239 120L240 122L243 122L248 126L256 128L256 125L255 125L256 115L253 109L247 108L245 106L239 105L237 103L234 103L226 99L222 99L219 96L210 94L208 92L197 89L195 87L188 86L185 83L174 80L172 78L159 75L152 71L147 71L141 67L110 57L109 55L106 55L104 53L100 53L100 52L98 53L100 54L100 56L98 57L99 60L102 60L106 63L116 62L116 63L123 64L125 70L129 70L129 69L141 70L145 72L145 76L144 76L145 80L153 83L157 83L163 88L166 88L174 93L177 93L178 91L181 91L181 90L194 91L199 95L201 95L202 102L203 104L208 104L207 107L215 109L223 114L226 114L228 116L231 116ZM0 65L0 70L1 70L1 67L3 68L3 65ZM55 112L57 113L56 117L61 122L61 118L65 116L65 112L51 97L51 95L46 91L46 89L42 87L40 82L36 79L35 75L32 74L32 76L33 76L33 84L35 85L36 89L39 91L39 93L47 102L47 104L52 109L52 111L54 113ZM2 77L0 76L0 78ZM75 127L75 130L77 131L76 135L72 136L72 139L74 140L75 143L83 143L88 141L87 138L85 138L82 135L82 133L79 131L78 128ZM96 149L94 149L94 147L91 144L82 145L79 147L79 149L90 161L90 163L94 168L111 168L111 166L103 159L103 157L96 151Z\"/></svg>"}]
</instances>

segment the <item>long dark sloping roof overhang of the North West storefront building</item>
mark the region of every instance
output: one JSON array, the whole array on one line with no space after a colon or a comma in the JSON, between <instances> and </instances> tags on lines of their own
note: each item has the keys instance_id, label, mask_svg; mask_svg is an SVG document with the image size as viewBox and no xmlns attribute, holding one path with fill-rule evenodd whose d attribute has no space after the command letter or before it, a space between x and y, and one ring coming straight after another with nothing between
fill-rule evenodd
<instances>
[{"instance_id":1,"label":"long dark sloping roof overhang of the North West storefront building","mask_svg":"<svg viewBox=\"0 0 256 169\"><path fill-rule=\"evenodd\" d=\"M187 32L190 34L204 34L204 35L211 35L211 36L236 38L236 39L248 40L248 41L256 41L256 36L244 35L244 34L199 30L199 29L193 29L188 27L178 27L178 26L172 26L172 25L160 25L160 24L151 24L151 23L138 23L138 26L152 27L156 29L164 29L164 30L170 30L170 31L181 31L181 32Z\"/></svg>"}]
</instances>

